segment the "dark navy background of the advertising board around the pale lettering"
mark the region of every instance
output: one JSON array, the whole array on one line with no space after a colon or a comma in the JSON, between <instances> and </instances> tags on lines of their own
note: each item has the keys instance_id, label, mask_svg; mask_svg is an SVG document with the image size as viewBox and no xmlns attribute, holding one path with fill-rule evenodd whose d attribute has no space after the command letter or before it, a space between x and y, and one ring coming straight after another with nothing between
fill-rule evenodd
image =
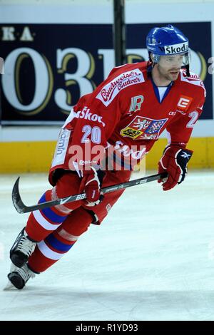
<instances>
[{"instance_id":1,"label":"dark navy background of the advertising board around the pale lettering","mask_svg":"<svg viewBox=\"0 0 214 335\"><path fill-rule=\"evenodd\" d=\"M202 53L207 67L208 58L211 56L211 24L210 22L191 22L191 23L171 23L188 36L190 48L195 52ZM126 25L126 48L146 48L146 35L154 26L166 26L163 24L128 24ZM1 92L1 108L3 121L63 121L67 115L62 113L54 101L54 93L57 88L65 88L64 74L57 73L56 68L56 49L57 48L81 48L83 51L90 52L95 61L95 72L91 78L98 86L103 81L103 59L98 58L98 49L113 48L113 36L111 24L4 24L4 26L14 26L16 33L21 33L24 26L29 26L31 33L35 33L34 41L2 41L0 46L0 56L4 59L16 48L34 48L43 54L51 63L54 75L54 89L48 105L36 115L21 115L19 110L12 107L6 100L4 93ZM1 36L0 36L1 38ZM143 59L142 59L143 60ZM136 59L139 61L139 59ZM68 73L76 72L77 61L72 58L68 62ZM6 72L6 69L5 69ZM201 119L213 119L213 90L212 76L206 72L205 88L207 98ZM4 75L3 75L4 76ZM28 105L34 97L35 73L34 66L30 58L24 59L21 65L21 76L19 81L21 97L24 104ZM80 97L78 85L68 86L72 89L72 105L75 105Z\"/></svg>"}]
</instances>

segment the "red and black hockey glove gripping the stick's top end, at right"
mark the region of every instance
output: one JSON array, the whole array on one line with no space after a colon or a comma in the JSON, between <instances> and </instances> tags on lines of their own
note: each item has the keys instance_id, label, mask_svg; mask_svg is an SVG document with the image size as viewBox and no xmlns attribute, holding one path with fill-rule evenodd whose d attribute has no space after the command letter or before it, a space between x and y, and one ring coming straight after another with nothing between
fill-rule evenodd
<instances>
[{"instance_id":1,"label":"red and black hockey glove gripping the stick's top end, at right","mask_svg":"<svg viewBox=\"0 0 214 335\"><path fill-rule=\"evenodd\" d=\"M163 182L163 190L168 191L183 182L187 173L187 164L193 155L193 150L183 149L179 145L170 145L163 151L158 163L158 173L168 172L168 178Z\"/></svg>"}]
</instances>

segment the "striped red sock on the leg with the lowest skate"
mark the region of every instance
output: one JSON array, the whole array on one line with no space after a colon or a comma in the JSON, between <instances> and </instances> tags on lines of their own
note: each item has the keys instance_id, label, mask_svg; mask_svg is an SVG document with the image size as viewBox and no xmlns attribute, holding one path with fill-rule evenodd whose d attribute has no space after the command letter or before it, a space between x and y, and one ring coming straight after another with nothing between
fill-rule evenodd
<instances>
[{"instance_id":1,"label":"striped red sock on the leg with the lowest skate","mask_svg":"<svg viewBox=\"0 0 214 335\"><path fill-rule=\"evenodd\" d=\"M78 237L86 232L92 222L91 215L79 207L66 218L61 227L39 242L29 258L29 267L35 272L44 272L63 257Z\"/></svg>"}]
</instances>

